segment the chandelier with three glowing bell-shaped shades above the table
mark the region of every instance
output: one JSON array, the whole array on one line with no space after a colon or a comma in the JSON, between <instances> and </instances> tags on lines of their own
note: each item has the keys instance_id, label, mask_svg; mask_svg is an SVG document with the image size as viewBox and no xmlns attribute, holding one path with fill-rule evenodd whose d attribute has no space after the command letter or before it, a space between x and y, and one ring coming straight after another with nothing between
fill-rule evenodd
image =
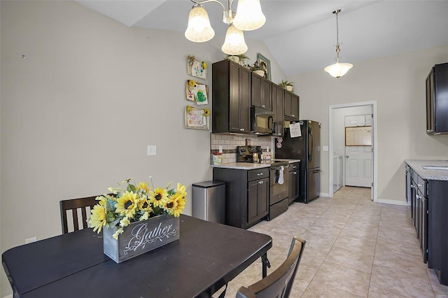
<instances>
[{"instance_id":1,"label":"chandelier with three glowing bell-shaped shades above the table","mask_svg":"<svg viewBox=\"0 0 448 298\"><path fill-rule=\"evenodd\" d=\"M223 7L223 22L229 25L223 47L221 48L228 55L239 55L246 52L247 45L244 41L243 30L258 29L266 22L266 17L261 11L260 0L238 0L236 13L232 11L234 0L227 0L227 9L218 0L191 1L195 4L188 17L185 37L195 43L211 40L215 36L215 31L211 28L209 15L202 4L207 2L219 3Z\"/></svg>"}]
</instances>

